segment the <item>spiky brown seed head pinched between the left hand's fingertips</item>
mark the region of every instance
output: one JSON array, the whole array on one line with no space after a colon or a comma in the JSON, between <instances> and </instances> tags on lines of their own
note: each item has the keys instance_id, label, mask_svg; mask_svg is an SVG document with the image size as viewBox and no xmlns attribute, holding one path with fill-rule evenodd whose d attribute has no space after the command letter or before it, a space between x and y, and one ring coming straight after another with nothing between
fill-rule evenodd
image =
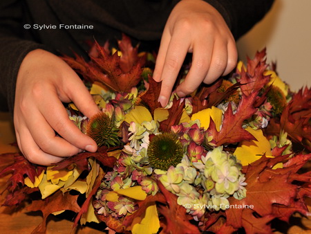
<instances>
[{"instance_id":1,"label":"spiky brown seed head pinched between the left hand's fingertips","mask_svg":"<svg viewBox=\"0 0 311 234\"><path fill-rule=\"evenodd\" d=\"M95 114L86 127L86 134L93 138L98 146L115 146L120 143L117 137L118 129L113 125L113 118L100 112Z\"/></svg>"}]
</instances>

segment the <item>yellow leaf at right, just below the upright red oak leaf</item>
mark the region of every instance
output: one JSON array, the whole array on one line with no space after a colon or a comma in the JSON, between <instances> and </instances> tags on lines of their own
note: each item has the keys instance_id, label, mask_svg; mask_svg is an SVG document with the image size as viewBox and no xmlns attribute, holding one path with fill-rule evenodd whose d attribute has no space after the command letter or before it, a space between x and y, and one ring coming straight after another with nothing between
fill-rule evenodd
<instances>
[{"instance_id":1,"label":"yellow leaf at right, just below the upright red oak leaf","mask_svg":"<svg viewBox=\"0 0 311 234\"><path fill-rule=\"evenodd\" d=\"M263 136L263 131L261 129L254 130L252 127L247 127L245 130L252 134L256 141L242 141L241 146L236 148L234 155L241 161L242 165L249 165L249 163L257 161L263 154L268 158L272 158L271 145L267 138ZM283 164L276 164L273 169L276 168L283 168Z\"/></svg>"}]
</instances>

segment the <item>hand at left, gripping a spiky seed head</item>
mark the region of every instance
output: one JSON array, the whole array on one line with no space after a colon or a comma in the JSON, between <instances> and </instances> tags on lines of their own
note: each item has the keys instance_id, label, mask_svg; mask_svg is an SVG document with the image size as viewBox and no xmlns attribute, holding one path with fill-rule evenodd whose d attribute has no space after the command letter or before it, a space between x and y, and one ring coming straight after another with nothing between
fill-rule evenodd
<instances>
[{"instance_id":1,"label":"hand at left, gripping a spiky seed head","mask_svg":"<svg viewBox=\"0 0 311 234\"><path fill-rule=\"evenodd\" d=\"M30 162L50 165L97 150L95 141L69 120L62 102L70 101L88 118L99 111L66 62L40 49L28 53L17 75L14 124L19 149Z\"/></svg>"}]
</instances>

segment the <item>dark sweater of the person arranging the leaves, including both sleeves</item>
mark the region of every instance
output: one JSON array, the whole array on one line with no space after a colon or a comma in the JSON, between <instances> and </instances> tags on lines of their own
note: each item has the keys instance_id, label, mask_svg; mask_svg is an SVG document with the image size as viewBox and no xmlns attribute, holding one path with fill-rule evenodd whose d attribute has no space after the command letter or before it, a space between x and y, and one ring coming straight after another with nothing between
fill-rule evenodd
<instances>
[{"instance_id":1,"label":"dark sweater of the person arranging the leaves, including both sleeves","mask_svg":"<svg viewBox=\"0 0 311 234\"><path fill-rule=\"evenodd\" d=\"M140 48L158 48L162 30L179 0L1 0L0 111L12 111L23 57L36 48L86 55L87 40L115 42L121 33ZM223 15L236 39L262 19L273 0L205 0ZM25 24L30 29L24 28ZM60 24L64 24L62 28ZM39 26L46 26L39 30ZM68 26L84 29L66 29ZM93 29L90 29L92 28ZM26 27L26 26L25 26ZM48 28L48 27L56 27Z\"/></svg>"}]
</instances>

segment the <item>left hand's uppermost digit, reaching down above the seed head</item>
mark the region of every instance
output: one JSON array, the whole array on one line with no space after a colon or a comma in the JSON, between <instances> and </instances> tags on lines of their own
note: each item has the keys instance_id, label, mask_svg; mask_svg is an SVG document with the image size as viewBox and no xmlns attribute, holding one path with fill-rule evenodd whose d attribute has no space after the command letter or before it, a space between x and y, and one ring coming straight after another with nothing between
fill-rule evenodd
<instances>
[{"instance_id":1,"label":"left hand's uppermost digit, reaching down above the seed head","mask_svg":"<svg viewBox=\"0 0 311 234\"><path fill-rule=\"evenodd\" d=\"M77 76L75 73L74 75ZM68 79L65 87L68 87L68 89L66 89L66 95L75 103L84 116L91 118L100 112L100 109L98 109L88 89L86 89L84 83L78 76L76 79Z\"/></svg>"}]
</instances>

